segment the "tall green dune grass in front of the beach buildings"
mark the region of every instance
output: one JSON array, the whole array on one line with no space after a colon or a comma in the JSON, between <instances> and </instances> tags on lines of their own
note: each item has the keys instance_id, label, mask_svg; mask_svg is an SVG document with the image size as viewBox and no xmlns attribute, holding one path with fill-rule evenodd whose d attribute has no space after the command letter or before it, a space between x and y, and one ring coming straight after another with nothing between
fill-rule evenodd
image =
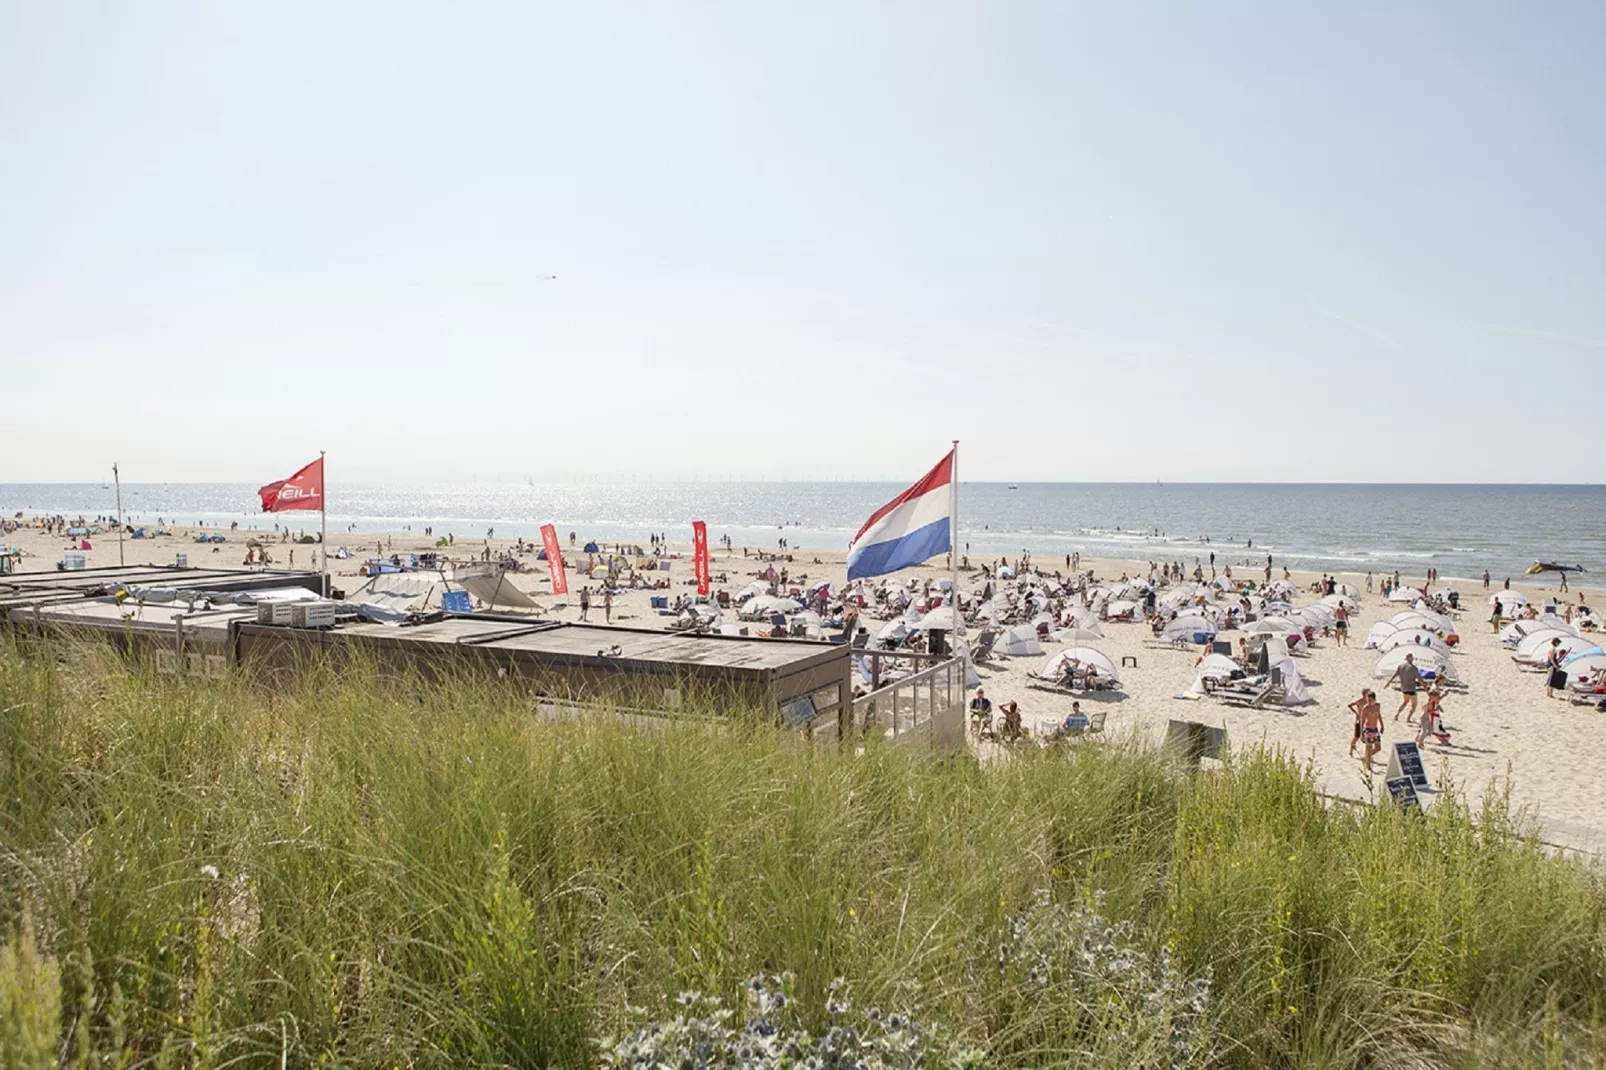
<instances>
[{"instance_id":1,"label":"tall green dune grass in front of the beach buildings","mask_svg":"<svg viewBox=\"0 0 1606 1070\"><path fill-rule=\"evenodd\" d=\"M1603 1057L1595 869L1500 802L1327 807L1261 752L981 770L551 721L495 680L275 691L0 641L0 792L8 1067L596 1065L631 1006L740 1007L756 974L811 1020L845 978L989 1065ZM1044 903L1208 977L1209 1043L1168 1054L1086 972L1002 962Z\"/></svg>"}]
</instances>

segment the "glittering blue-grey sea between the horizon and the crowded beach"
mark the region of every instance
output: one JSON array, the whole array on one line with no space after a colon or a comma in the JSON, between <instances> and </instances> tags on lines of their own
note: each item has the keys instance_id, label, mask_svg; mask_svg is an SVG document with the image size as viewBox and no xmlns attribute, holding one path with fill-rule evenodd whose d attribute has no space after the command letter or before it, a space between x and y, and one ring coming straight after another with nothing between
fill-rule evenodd
<instances>
[{"instance_id":1,"label":"glittering blue-grey sea between the horizon and the crowded beach","mask_svg":"<svg viewBox=\"0 0 1606 1070\"><path fill-rule=\"evenodd\" d=\"M864 519L903 490L895 484L332 484L331 541L345 533L535 538L552 522L567 537L691 541L691 522L736 545L843 549ZM265 516L247 484L124 484L135 522L315 530L318 514ZM112 514L101 484L0 484L0 514ZM960 538L970 556L1086 556L1208 561L1330 572L1516 577L1535 559L1606 575L1606 485L1402 484L962 484ZM1206 541L1208 540L1208 541ZM1248 543L1253 541L1253 549ZM1585 582L1595 582L1587 577Z\"/></svg>"}]
</instances>

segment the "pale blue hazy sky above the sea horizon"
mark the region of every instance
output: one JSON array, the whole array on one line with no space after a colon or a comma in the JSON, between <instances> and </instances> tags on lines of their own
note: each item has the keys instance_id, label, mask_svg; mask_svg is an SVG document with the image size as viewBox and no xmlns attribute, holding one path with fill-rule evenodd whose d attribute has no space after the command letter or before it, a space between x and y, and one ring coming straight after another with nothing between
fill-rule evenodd
<instances>
[{"instance_id":1,"label":"pale blue hazy sky above the sea horizon","mask_svg":"<svg viewBox=\"0 0 1606 1070\"><path fill-rule=\"evenodd\" d=\"M0 0L0 482L1596 482L1603 40Z\"/></svg>"}]
</instances>

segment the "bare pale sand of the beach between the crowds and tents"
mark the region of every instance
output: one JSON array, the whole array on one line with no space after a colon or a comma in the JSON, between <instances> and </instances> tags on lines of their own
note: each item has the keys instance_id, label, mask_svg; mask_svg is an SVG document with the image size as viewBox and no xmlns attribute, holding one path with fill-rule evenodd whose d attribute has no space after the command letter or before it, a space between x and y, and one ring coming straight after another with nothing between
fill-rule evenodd
<instances>
[{"instance_id":1,"label":"bare pale sand of the beach between the crowds and tents","mask_svg":"<svg viewBox=\"0 0 1606 1070\"><path fill-rule=\"evenodd\" d=\"M315 521L315 517L310 517ZM292 521L294 522L294 521ZM297 527L300 527L297 524ZM315 529L313 525L308 525ZM228 532L228 541L222 545L202 545L196 541L196 529L173 529L172 535L161 535L143 540L124 540L122 557L127 564L173 564L175 556L183 553L191 566L226 566L238 567L246 557L246 540L252 535L246 530ZM353 591L365 578L361 562L377 549L385 554L411 554L435 549L432 537L345 537L344 541L331 533L331 545L345 545L350 557L339 561L331 557L331 574L334 585L344 591ZM718 540L718 533L713 535ZM585 533L578 535L578 545L585 545ZM114 566L119 561L117 540L111 533L92 535L92 548L79 549L79 540L71 540L72 551L82 553L87 567ZM546 615L560 620L578 620L578 593L581 586L596 583L580 575L578 567L586 564L585 553L572 553L567 548L567 532L564 533L565 559L569 564L569 594L557 599L551 594L551 583L544 561L536 561L533 548L516 554L522 566L520 572L511 574L512 582L527 591ZM69 540L50 535L39 527L24 525L0 537L0 545L10 545L22 551L21 570L51 570L67 553ZM440 551L451 561L466 564L479 561L485 549L491 557L514 553L516 545L496 538L456 538L454 545ZM609 546L604 546L609 549ZM689 546L670 546L670 580L668 591L626 590L615 594L612 606L612 623L628 627L658 628L666 627L670 619L650 607L654 593L673 598L691 590L691 557ZM291 559L294 551L294 562ZM270 553L275 567L316 567L315 546L270 541ZM772 553L772 551L771 551ZM941 562L933 562L940 566ZM980 562L973 562L980 564ZM996 562L993 562L996 564ZM1063 570L1062 561L1039 561L1039 567L1054 572ZM1082 570L1092 570L1100 580L1118 580L1123 575L1142 577L1148 574L1148 562L1142 561L1094 561L1081 559ZM1192 569L1192 562L1184 562ZM793 561L781 559L776 567L785 567L792 585L817 583L829 580L842 583L846 577L845 554L798 551ZM732 594L750 583L766 564L758 559L756 551L744 557L744 549L736 546L726 549L723 545L713 546L715 590L728 590ZM652 578L665 578L663 574L649 574ZM946 575L941 567L909 569L893 577L940 578ZM1245 578L1238 572L1238 578ZM1261 578L1259 574L1248 574ZM1278 570L1280 575L1280 570ZM1365 588L1365 575L1335 574L1338 580ZM1206 574L1208 578L1208 574ZM1301 594L1298 604L1317 601L1309 593L1310 583L1319 578L1312 574L1293 574ZM1376 577L1381 580L1381 577ZM1513 590L1521 591L1535 606L1558 598L1555 577L1524 577L1539 580L1537 583L1513 583ZM1407 585L1421 585L1423 577L1402 577ZM980 590L980 574L972 570L960 577L967 590ZM1479 583L1458 582L1461 591L1461 612L1457 620L1457 631L1461 638L1453 655L1455 668L1465 681L1465 691L1452 691L1445 699L1445 728L1452 734L1452 745L1429 742L1423 747L1428 773L1436 782L1455 786L1465 792L1473 805L1486 792L1502 792L1510 787L1513 800L1529 808L1539 819L1543 837L1558 845L1579 850L1606 850L1606 778L1598 770L1606 766L1606 733L1603 733L1603 717L1585 705L1574 705L1566 699L1547 699L1543 691L1543 673L1524 670L1511 660L1511 652L1503 649L1489 625L1489 594ZM1498 590L1498 585L1497 588ZM1574 586L1559 598L1579 604L1580 594L1590 606L1606 602L1600 591ZM1280 749L1299 760L1309 760L1315 771L1322 790L1354 800L1368 800L1373 792L1383 792L1381 770L1386 760L1388 745L1397 741L1413 739L1415 725L1405 720L1394 720L1394 709L1399 704L1397 691L1381 691L1381 681L1372 678L1372 668L1378 660L1378 652L1363 649L1368 628L1378 620L1388 620L1404 609L1397 602L1388 602L1376 591L1363 596L1360 609L1351 625L1354 636L1347 647L1336 646L1331 639L1319 639L1312 644L1307 657L1298 659L1299 673L1304 678L1314 702L1298 709L1237 709L1227 707L1213 699L1187 699L1185 696L1195 678L1195 660L1198 647L1156 649L1145 644L1150 630L1145 623L1105 623L1107 638L1097 643L1121 668L1123 692L1100 697L1079 696L1086 710L1102 709L1108 713L1107 733L1121 736L1140 733L1150 737L1161 737L1171 718L1201 721L1227 729L1233 747L1267 745ZM591 622L604 617L601 598L593 604ZM866 614L875 620L872 614ZM753 625L755 631L763 625ZM874 631L872 625L872 631ZM1222 638L1237 639L1237 633L1222 633ZM1046 652L1054 654L1062 649L1058 644L1046 644ZM1021 717L1029 729L1039 729L1060 721L1073 697L1068 692L1046 691L1033 686L1031 672L1044 657L994 659L978 665L988 696L994 704L1015 700L1020 704ZM1134 664L1135 662L1135 664ZM1378 762L1378 773L1372 778L1365 774L1359 760L1349 757L1351 713L1346 705L1354 700L1365 686L1376 688L1384 713L1384 752ZM1429 805L1431 805L1431 795Z\"/></svg>"}]
</instances>

